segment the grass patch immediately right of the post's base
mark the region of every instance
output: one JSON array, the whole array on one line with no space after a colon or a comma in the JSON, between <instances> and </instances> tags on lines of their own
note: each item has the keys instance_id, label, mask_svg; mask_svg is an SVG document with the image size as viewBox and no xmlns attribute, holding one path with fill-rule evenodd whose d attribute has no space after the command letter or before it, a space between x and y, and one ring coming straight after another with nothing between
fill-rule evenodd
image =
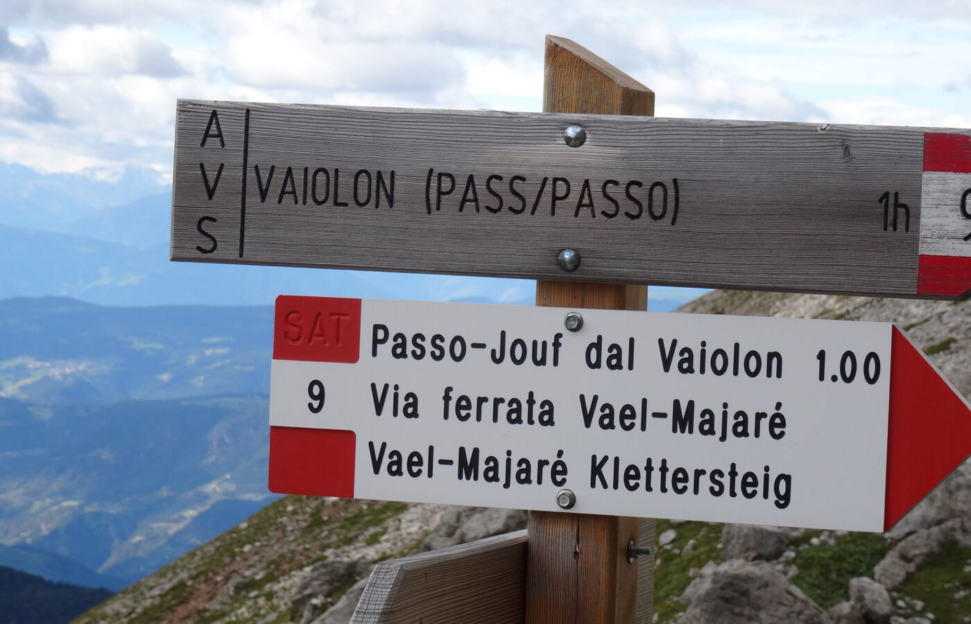
<instances>
[{"instance_id":1,"label":"grass patch immediately right of the post's base","mask_svg":"<svg viewBox=\"0 0 971 624\"><path fill-rule=\"evenodd\" d=\"M691 583L691 568L702 568L709 561L721 563L721 525L707 522L682 522L674 525L670 520L657 520L657 535L674 529L674 542L657 549L655 560L661 564L654 568L654 613L658 622L671 622L681 614L686 605L678 598ZM690 552L682 552L687 542L694 540Z\"/></svg>"}]
</instances>

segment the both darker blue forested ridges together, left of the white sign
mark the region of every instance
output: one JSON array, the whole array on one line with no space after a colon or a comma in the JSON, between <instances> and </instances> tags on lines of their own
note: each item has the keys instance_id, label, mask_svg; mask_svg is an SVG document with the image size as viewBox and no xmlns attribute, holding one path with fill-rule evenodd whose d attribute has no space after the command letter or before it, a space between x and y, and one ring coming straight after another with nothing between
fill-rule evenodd
<instances>
[{"instance_id":1,"label":"both darker blue forested ridges together, left of the white sign","mask_svg":"<svg viewBox=\"0 0 971 624\"><path fill-rule=\"evenodd\" d=\"M269 307L0 301L0 565L117 589L272 500L271 332Z\"/></svg>"}]
</instances>

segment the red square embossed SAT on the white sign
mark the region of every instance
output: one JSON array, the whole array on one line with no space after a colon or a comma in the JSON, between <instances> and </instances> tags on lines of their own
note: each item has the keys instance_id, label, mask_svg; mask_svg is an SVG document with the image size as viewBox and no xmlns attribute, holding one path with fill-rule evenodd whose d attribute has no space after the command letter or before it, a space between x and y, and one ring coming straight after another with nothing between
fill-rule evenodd
<instances>
[{"instance_id":1,"label":"red square embossed SAT on the white sign","mask_svg":"<svg viewBox=\"0 0 971 624\"><path fill-rule=\"evenodd\" d=\"M277 297L273 359L353 364L360 352L361 300Z\"/></svg>"}]
</instances>

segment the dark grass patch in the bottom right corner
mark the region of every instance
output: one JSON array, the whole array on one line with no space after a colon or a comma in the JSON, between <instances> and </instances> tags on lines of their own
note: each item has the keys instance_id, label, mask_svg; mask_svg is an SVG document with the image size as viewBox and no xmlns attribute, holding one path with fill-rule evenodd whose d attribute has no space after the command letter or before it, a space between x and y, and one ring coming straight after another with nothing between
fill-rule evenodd
<instances>
[{"instance_id":1,"label":"dark grass patch in the bottom right corner","mask_svg":"<svg viewBox=\"0 0 971 624\"><path fill-rule=\"evenodd\" d=\"M967 621L962 618L971 613L971 548L945 542L897 591L923 602L922 612L909 615L930 612L938 622Z\"/></svg>"}]
</instances>

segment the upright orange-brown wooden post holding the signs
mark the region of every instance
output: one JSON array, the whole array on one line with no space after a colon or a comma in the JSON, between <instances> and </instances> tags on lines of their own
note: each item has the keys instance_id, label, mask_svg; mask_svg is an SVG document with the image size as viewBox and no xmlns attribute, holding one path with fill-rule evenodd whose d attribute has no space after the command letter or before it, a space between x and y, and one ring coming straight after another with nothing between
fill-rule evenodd
<instances>
[{"instance_id":1,"label":"upright orange-brown wooden post holding the signs","mask_svg":"<svg viewBox=\"0 0 971 624\"><path fill-rule=\"evenodd\" d=\"M568 39L548 36L543 110L653 115L654 94L588 49ZM583 263L584 250L577 250ZM544 280L536 283L537 306L645 310L647 299L646 285ZM653 526L649 524L646 529L641 531L637 518L530 512L526 623L633 624L632 598L634 590L641 588L637 565L627 561L627 542L653 536ZM653 559L643 563L653 565ZM652 596L643 601L638 597L637 604L642 603L651 605ZM650 618L650 607L637 613L638 622Z\"/></svg>"}]
</instances>

